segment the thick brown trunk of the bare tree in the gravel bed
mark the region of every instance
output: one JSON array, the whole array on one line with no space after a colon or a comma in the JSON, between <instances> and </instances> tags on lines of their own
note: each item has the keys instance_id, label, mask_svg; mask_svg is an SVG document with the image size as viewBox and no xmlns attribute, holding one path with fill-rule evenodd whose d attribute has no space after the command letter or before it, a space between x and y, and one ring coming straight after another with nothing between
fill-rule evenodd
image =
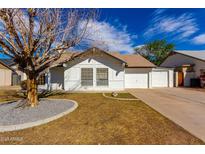
<instances>
[{"instance_id":1,"label":"thick brown trunk of the bare tree in the gravel bed","mask_svg":"<svg viewBox=\"0 0 205 154\"><path fill-rule=\"evenodd\" d=\"M31 107L38 105L37 79L33 75L27 76L27 101Z\"/></svg>"}]
</instances>

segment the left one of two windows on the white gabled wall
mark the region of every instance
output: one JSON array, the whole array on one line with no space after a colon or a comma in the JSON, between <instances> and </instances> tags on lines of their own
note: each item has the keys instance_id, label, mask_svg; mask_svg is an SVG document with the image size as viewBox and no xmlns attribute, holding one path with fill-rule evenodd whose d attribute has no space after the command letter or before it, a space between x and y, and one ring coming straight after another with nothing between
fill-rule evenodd
<instances>
[{"instance_id":1,"label":"left one of two windows on the white gabled wall","mask_svg":"<svg viewBox=\"0 0 205 154\"><path fill-rule=\"evenodd\" d=\"M81 85L93 86L93 69L81 68Z\"/></svg>"}]
</instances>

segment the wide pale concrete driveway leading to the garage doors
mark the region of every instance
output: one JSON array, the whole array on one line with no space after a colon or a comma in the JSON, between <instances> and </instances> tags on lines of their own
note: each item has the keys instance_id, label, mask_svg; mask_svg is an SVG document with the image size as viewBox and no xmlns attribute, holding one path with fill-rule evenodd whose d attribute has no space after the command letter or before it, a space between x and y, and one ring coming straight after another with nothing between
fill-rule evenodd
<instances>
[{"instance_id":1,"label":"wide pale concrete driveway leading to the garage doors","mask_svg":"<svg viewBox=\"0 0 205 154\"><path fill-rule=\"evenodd\" d=\"M128 92L205 142L205 92L185 88Z\"/></svg>"}]
</instances>

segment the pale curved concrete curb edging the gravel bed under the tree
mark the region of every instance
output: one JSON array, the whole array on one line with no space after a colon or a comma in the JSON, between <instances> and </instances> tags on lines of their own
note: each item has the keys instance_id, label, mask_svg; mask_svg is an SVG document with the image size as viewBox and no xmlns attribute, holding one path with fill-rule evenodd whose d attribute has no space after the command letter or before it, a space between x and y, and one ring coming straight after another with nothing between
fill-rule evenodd
<instances>
[{"instance_id":1,"label":"pale curved concrete curb edging the gravel bed under the tree","mask_svg":"<svg viewBox=\"0 0 205 154\"><path fill-rule=\"evenodd\" d=\"M47 99L49 100L49 99ZM24 124L17 124L17 125L9 125L9 126L0 126L0 132L9 132L9 131L17 131L17 130L22 130L22 129L26 129L26 128L31 128L31 127L35 127L35 126L39 126L42 124L46 124L48 122L51 122L53 120L56 120L58 118L63 117L64 115L67 115L69 113L71 113L72 111L74 111L77 107L78 107L78 103L74 100L70 100L70 99L50 99L50 100L66 100L66 101L71 101L74 103L73 107L61 112L55 116L46 118L46 119L42 119L42 120L38 120L38 121L34 121L34 122L28 122L28 123L24 123Z\"/></svg>"}]
</instances>

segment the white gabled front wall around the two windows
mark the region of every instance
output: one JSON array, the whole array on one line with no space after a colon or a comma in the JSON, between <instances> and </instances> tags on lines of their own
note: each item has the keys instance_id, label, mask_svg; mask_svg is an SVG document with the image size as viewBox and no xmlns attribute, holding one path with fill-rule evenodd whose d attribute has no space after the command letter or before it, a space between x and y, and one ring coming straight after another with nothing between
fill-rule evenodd
<instances>
[{"instance_id":1,"label":"white gabled front wall around the two windows","mask_svg":"<svg viewBox=\"0 0 205 154\"><path fill-rule=\"evenodd\" d=\"M81 86L81 68L93 69L93 86ZM108 86L96 85L96 69L108 68ZM103 55L87 58L81 62L69 64L64 68L65 90L123 90L124 68L119 61Z\"/></svg>"}]
</instances>

